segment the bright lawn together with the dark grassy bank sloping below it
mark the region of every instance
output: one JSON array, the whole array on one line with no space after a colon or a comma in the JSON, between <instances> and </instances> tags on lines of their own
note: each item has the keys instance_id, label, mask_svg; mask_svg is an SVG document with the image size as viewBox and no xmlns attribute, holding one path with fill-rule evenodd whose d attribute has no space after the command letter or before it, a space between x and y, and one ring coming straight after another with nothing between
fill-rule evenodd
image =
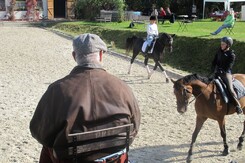
<instances>
[{"instance_id":1,"label":"bright lawn together with the dark grassy bank sloping below it","mask_svg":"<svg viewBox=\"0 0 245 163\"><path fill-rule=\"evenodd\" d=\"M178 31L179 23L176 21L170 24L166 21L164 24L158 24L159 32L166 32L176 34L174 41L174 50L171 55L165 55L164 67L173 67L181 71L197 72L202 74L209 73L210 62L212 61L217 48L220 45L220 38L224 36L232 37L234 41L233 49L237 55L237 63L234 66L234 72L245 72L245 22L237 21L233 32L235 34L226 34L226 29L221 31L218 35L211 35L223 22L206 20L196 20L188 23L187 31ZM125 53L125 40L127 37L137 35L139 37L146 37L147 24L135 24L134 28L128 28L130 21L121 23L117 22L88 22L88 21L72 21L62 22L58 24L50 24L50 27L75 36L81 33L95 33L102 36L103 40L108 46L116 52L125 55L132 55ZM114 42L115 46L110 46ZM138 59L143 60L143 56L137 56ZM151 63L152 60L149 60Z\"/></svg>"}]
</instances>

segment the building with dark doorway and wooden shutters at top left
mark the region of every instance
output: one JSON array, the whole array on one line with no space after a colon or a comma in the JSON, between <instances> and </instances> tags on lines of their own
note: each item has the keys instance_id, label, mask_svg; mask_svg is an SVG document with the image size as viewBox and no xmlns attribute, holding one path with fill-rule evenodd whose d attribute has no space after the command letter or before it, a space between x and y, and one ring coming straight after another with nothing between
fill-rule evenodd
<instances>
[{"instance_id":1,"label":"building with dark doorway and wooden shutters at top left","mask_svg":"<svg viewBox=\"0 0 245 163\"><path fill-rule=\"evenodd\" d=\"M32 7L35 3L36 7ZM8 20L14 4L15 20L73 18L74 0L0 0L0 20Z\"/></svg>"}]
</instances>

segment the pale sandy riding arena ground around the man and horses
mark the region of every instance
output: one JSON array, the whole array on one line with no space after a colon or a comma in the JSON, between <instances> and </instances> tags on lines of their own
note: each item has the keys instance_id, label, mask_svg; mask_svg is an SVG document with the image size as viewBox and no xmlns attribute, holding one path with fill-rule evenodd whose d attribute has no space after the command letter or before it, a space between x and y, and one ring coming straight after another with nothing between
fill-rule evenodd
<instances>
[{"instance_id":1,"label":"pale sandy riding arena ground around the man and horses","mask_svg":"<svg viewBox=\"0 0 245 163\"><path fill-rule=\"evenodd\" d=\"M29 121L48 85L75 66L72 42L34 27L3 26L0 38L0 163L38 162L41 145L30 135ZM142 64L134 64L128 75L128 58L108 54L104 66L133 89L141 108L140 131L130 147L130 159L137 163L185 162L195 126L193 104L186 114L177 113L172 83L165 83L159 72L148 80ZM218 123L208 120L197 138L193 162L244 163L245 149L236 151L242 131L238 115L227 116L226 131L231 152L221 156Z\"/></svg>"}]
</instances>

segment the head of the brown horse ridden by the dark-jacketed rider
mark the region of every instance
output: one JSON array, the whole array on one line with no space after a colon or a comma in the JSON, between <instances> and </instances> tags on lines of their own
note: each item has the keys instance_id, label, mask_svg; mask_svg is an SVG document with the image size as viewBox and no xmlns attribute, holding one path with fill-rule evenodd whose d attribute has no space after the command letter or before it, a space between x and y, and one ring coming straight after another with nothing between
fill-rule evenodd
<instances>
[{"instance_id":1,"label":"head of the brown horse ridden by the dark-jacketed rider","mask_svg":"<svg viewBox=\"0 0 245 163\"><path fill-rule=\"evenodd\" d=\"M183 79L179 79L177 81L171 79L171 81L174 83L173 88L177 99L177 111L181 114L185 113L187 111L189 99L192 96L192 86L184 84Z\"/></svg>"}]
</instances>

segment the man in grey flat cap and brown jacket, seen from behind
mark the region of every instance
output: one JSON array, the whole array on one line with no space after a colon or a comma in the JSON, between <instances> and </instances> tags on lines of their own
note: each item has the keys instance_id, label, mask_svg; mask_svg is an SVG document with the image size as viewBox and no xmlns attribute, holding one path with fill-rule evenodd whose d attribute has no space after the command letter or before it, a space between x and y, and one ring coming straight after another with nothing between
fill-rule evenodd
<instances>
[{"instance_id":1,"label":"man in grey flat cap and brown jacket, seen from behind","mask_svg":"<svg viewBox=\"0 0 245 163\"><path fill-rule=\"evenodd\" d=\"M68 134L132 123L132 137L137 135L137 100L125 82L103 69L106 51L98 35L86 33L73 39L72 56L77 66L49 85L30 122L32 136L43 146L39 163L72 163L73 158L57 158L54 154L54 149L67 147ZM104 154L118 152L117 148L86 153L77 162L94 162Z\"/></svg>"}]
</instances>

